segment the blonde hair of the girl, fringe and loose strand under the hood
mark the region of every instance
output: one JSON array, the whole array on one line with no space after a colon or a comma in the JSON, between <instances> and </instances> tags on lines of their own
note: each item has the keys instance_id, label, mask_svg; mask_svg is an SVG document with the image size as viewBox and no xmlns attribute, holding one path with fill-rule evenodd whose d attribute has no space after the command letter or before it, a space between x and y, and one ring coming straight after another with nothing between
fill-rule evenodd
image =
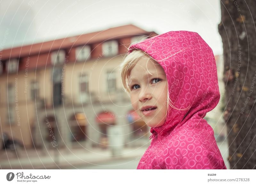
<instances>
[{"instance_id":1,"label":"blonde hair of the girl, fringe and loose strand under the hood","mask_svg":"<svg viewBox=\"0 0 256 185\"><path fill-rule=\"evenodd\" d=\"M131 74L132 68L137 64L137 62L141 59L141 58L147 58L149 60L154 60L150 55L148 55L147 53L135 49L133 50L130 54L126 54L124 61L120 64L120 71L121 71L121 79L122 79L122 85L123 85L123 89L124 91L128 94L129 97L130 96L130 88L128 86L128 77ZM155 60L156 61L156 60ZM158 63L158 62L157 62ZM159 64L159 63L158 63ZM160 65L160 64L159 64ZM169 90L168 90L168 82L167 82L167 103L168 105L170 105L172 108L176 109L176 110L186 110L186 109L177 109L176 107L173 106L172 100L170 99L169 96ZM166 103L166 102L165 102ZM169 106L167 106L167 112L169 111Z\"/></svg>"}]
</instances>

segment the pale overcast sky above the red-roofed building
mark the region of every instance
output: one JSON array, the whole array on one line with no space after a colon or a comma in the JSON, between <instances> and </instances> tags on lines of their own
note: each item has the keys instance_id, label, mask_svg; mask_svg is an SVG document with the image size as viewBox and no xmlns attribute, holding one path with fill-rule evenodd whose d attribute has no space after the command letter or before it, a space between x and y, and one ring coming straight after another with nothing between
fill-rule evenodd
<instances>
[{"instance_id":1,"label":"pale overcast sky above the red-roofed building","mask_svg":"<svg viewBox=\"0 0 256 185\"><path fill-rule=\"evenodd\" d=\"M158 34L197 32L215 55L223 53L218 32L220 0L2 0L2 49L134 24Z\"/></svg>"}]
</instances>

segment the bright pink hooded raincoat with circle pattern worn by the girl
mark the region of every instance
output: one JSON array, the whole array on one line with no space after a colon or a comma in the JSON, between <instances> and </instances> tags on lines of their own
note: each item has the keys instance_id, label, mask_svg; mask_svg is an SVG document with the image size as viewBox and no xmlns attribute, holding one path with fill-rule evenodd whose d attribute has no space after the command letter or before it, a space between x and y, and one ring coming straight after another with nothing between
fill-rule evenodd
<instances>
[{"instance_id":1,"label":"bright pink hooded raincoat with circle pattern worn by the girl","mask_svg":"<svg viewBox=\"0 0 256 185\"><path fill-rule=\"evenodd\" d=\"M164 125L151 127L150 146L137 169L227 169L204 118L220 100L212 49L196 32L171 31L129 47L148 53L164 69L170 107Z\"/></svg>"}]
</instances>

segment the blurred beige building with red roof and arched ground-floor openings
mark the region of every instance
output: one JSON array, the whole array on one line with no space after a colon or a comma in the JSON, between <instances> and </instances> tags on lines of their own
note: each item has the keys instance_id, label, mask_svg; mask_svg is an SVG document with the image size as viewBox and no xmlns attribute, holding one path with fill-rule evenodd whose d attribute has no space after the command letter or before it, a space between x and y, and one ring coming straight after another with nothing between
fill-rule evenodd
<instances>
[{"instance_id":1,"label":"blurred beige building with red roof and arched ground-floor openings","mask_svg":"<svg viewBox=\"0 0 256 185\"><path fill-rule=\"evenodd\" d=\"M124 25L3 50L0 132L26 148L105 147L115 125L126 146L148 142L118 65L130 43L155 35Z\"/></svg>"}]
</instances>

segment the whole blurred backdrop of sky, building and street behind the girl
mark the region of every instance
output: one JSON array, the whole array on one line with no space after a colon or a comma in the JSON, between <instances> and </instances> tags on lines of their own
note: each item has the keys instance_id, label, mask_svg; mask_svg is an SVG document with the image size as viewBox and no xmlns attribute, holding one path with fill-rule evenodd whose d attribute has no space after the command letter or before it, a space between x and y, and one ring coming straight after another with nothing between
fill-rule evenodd
<instances>
[{"instance_id":1,"label":"whole blurred backdrop of sky, building and street behind the girl","mask_svg":"<svg viewBox=\"0 0 256 185\"><path fill-rule=\"evenodd\" d=\"M150 127L118 66L131 43L175 30L214 52L221 97L204 119L229 167L219 23L219 0L1 1L0 168L136 169Z\"/></svg>"}]
</instances>

